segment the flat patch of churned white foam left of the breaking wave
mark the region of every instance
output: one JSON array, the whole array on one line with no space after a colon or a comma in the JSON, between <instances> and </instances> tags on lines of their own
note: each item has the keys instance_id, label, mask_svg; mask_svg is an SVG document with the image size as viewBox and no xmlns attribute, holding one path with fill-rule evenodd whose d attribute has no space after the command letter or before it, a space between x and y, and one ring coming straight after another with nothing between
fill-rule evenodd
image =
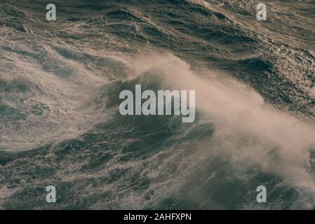
<instances>
[{"instance_id":1,"label":"flat patch of churned white foam left of the breaking wave","mask_svg":"<svg viewBox=\"0 0 315 224\"><path fill-rule=\"evenodd\" d=\"M8 87L6 94L1 95L2 102L24 117L2 117L1 149L25 150L73 138L105 118L95 110L91 99L100 85L108 82L106 76L96 76L48 46L46 52L45 63L52 68L48 71L36 61L15 59L15 69L3 69L1 73L1 80ZM27 90L16 90L15 86L20 85ZM44 108L41 114L36 114L36 106Z\"/></svg>"}]
</instances>

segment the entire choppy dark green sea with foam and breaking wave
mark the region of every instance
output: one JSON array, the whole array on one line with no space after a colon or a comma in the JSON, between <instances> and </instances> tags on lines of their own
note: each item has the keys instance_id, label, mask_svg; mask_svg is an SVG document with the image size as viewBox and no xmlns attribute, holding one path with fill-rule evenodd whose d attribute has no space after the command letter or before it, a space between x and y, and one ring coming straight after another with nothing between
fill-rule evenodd
<instances>
[{"instance_id":1,"label":"entire choppy dark green sea with foam and breaking wave","mask_svg":"<svg viewBox=\"0 0 315 224\"><path fill-rule=\"evenodd\" d=\"M314 0L54 2L0 2L0 208L314 209ZM195 122L121 116L135 84Z\"/></svg>"}]
</instances>

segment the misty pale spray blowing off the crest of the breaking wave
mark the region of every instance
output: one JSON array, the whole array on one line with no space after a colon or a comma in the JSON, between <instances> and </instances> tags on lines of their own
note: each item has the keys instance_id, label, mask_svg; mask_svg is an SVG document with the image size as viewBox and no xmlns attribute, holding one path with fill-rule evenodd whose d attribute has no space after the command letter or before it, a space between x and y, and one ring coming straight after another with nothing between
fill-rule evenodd
<instances>
[{"instance_id":1,"label":"misty pale spray blowing off the crest of the breaking wave","mask_svg":"<svg viewBox=\"0 0 315 224\"><path fill-rule=\"evenodd\" d=\"M250 87L222 73L203 71L207 78L200 78L173 55L138 57L134 69L136 74L161 74L174 88L196 90L196 109L216 124L212 143L205 147L232 153L240 175L248 165L257 164L289 185L315 193L314 175L309 172L309 150L315 148L313 125L277 111Z\"/></svg>"}]
</instances>

